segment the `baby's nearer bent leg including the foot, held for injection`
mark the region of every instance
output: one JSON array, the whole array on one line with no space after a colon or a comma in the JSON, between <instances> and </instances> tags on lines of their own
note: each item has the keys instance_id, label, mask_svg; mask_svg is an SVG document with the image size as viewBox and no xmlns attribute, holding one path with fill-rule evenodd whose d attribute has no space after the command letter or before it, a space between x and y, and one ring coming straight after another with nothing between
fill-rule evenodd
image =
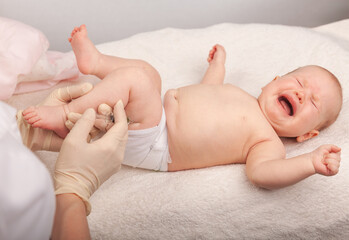
<instances>
[{"instance_id":1,"label":"baby's nearer bent leg including the foot, held for injection","mask_svg":"<svg viewBox=\"0 0 349 240\"><path fill-rule=\"evenodd\" d=\"M132 122L129 129L154 127L161 119L162 104L160 78L154 79L153 75L139 67L120 68L68 105L31 107L23 111L23 116L34 127L53 130L64 138L68 133L64 125L68 111L83 113L91 107L97 110L101 103L114 106L121 99Z\"/></svg>"}]
</instances>

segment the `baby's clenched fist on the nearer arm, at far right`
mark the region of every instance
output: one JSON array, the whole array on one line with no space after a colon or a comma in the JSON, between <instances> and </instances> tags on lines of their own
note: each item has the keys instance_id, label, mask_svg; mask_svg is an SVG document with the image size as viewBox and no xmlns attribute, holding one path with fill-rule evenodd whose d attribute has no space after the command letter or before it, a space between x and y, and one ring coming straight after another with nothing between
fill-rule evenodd
<instances>
[{"instance_id":1,"label":"baby's clenched fist on the nearer arm, at far right","mask_svg":"<svg viewBox=\"0 0 349 240\"><path fill-rule=\"evenodd\" d=\"M335 145L322 145L311 153L316 173L333 176L339 171L341 149Z\"/></svg>"}]
</instances>

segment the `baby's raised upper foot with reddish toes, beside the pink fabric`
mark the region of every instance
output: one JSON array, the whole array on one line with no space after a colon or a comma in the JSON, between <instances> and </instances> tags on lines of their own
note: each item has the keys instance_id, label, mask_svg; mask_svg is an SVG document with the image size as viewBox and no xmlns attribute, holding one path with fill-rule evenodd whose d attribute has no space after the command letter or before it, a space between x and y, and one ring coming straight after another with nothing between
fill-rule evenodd
<instances>
[{"instance_id":1,"label":"baby's raised upper foot with reddish toes, beside the pink fabric","mask_svg":"<svg viewBox=\"0 0 349 240\"><path fill-rule=\"evenodd\" d=\"M80 72L94 74L101 53L88 38L86 26L75 27L68 40L73 48Z\"/></svg>"}]
</instances>

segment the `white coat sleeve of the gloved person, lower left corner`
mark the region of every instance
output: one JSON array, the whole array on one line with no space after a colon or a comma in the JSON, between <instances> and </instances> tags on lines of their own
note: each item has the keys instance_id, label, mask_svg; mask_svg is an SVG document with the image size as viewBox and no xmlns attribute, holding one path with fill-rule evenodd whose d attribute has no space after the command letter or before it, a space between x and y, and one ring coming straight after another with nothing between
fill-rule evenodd
<instances>
[{"instance_id":1,"label":"white coat sleeve of the gloved person, lower left corner","mask_svg":"<svg viewBox=\"0 0 349 240\"><path fill-rule=\"evenodd\" d=\"M49 172L23 144L16 110L0 102L0 239L49 239L55 195Z\"/></svg>"}]
</instances>

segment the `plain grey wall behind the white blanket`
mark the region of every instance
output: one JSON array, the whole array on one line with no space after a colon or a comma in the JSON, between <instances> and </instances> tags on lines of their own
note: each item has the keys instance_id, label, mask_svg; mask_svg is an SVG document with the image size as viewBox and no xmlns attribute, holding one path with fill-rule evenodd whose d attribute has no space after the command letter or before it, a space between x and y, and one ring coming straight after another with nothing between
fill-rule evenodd
<instances>
[{"instance_id":1,"label":"plain grey wall behind the white blanket","mask_svg":"<svg viewBox=\"0 0 349 240\"><path fill-rule=\"evenodd\" d=\"M69 51L67 38L82 23L95 44L222 22L315 27L349 18L349 0L0 0L0 15L43 31L50 50Z\"/></svg>"}]
</instances>

